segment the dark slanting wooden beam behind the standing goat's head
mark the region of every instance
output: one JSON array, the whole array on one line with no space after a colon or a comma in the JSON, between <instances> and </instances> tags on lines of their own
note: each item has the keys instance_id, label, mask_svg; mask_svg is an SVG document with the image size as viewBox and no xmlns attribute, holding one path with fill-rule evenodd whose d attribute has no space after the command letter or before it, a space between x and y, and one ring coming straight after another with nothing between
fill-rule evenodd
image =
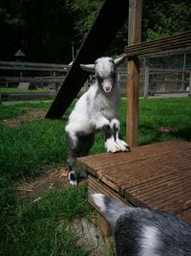
<instances>
[{"instance_id":1,"label":"dark slanting wooden beam behind the standing goat's head","mask_svg":"<svg viewBox=\"0 0 191 256\"><path fill-rule=\"evenodd\" d=\"M106 0L104 2L96 17L96 22L74 58L74 63L46 117L60 118L69 105L72 104L89 75L80 69L79 64L94 63L96 58L102 56L127 16L128 1Z\"/></svg>"}]
</instances>

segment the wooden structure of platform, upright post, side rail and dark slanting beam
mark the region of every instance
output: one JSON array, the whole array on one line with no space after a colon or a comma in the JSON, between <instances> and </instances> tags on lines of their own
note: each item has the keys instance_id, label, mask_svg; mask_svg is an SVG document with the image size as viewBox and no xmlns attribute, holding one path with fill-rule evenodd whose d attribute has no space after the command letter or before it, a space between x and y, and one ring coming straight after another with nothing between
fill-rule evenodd
<instances>
[{"instance_id":1,"label":"wooden structure of platform, upright post, side rail and dark slanting beam","mask_svg":"<svg viewBox=\"0 0 191 256\"><path fill-rule=\"evenodd\" d=\"M128 16L126 134L132 151L81 157L77 164L89 173L90 195L108 194L125 204L167 210L191 222L191 143L166 142L137 147L138 56L191 46L191 32L140 42L141 9L141 0L129 0L129 4L125 0L105 1L47 117L62 116L88 76L79 69L79 63L92 62L101 56Z\"/></svg>"}]
</instances>

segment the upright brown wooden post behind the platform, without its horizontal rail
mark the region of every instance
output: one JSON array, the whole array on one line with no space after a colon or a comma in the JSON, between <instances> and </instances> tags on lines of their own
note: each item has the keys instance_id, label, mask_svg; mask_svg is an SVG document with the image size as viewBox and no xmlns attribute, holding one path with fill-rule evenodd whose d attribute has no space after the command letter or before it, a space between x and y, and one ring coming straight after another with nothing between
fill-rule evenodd
<instances>
[{"instance_id":1,"label":"upright brown wooden post behind the platform, without its horizontal rail","mask_svg":"<svg viewBox=\"0 0 191 256\"><path fill-rule=\"evenodd\" d=\"M129 0L128 45L140 42L142 0ZM130 147L138 146L138 57L128 58L127 63L127 140Z\"/></svg>"}]
</instances>

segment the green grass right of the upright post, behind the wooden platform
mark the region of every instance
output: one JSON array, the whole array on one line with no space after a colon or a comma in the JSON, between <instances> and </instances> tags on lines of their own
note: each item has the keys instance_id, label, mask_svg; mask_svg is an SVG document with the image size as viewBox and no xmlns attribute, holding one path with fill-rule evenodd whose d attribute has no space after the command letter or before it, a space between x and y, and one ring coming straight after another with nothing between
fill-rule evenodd
<instances>
[{"instance_id":1,"label":"green grass right of the upright post, behind the wooden platform","mask_svg":"<svg viewBox=\"0 0 191 256\"><path fill-rule=\"evenodd\" d=\"M168 132L160 130L168 128ZM142 100L139 103L138 144L191 139L191 99Z\"/></svg>"}]
</instances>

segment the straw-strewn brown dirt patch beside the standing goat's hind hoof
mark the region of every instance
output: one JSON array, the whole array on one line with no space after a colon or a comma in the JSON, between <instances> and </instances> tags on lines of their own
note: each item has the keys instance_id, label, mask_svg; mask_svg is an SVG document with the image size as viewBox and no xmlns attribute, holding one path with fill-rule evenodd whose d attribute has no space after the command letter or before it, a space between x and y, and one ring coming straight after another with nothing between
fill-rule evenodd
<instances>
[{"instance_id":1,"label":"straw-strewn brown dirt patch beside the standing goat's hind hoof","mask_svg":"<svg viewBox=\"0 0 191 256\"><path fill-rule=\"evenodd\" d=\"M50 170L46 175L41 175L23 183L18 187L18 194L21 198L38 199L44 192L55 188L69 186L68 171L66 167L62 167L57 171Z\"/></svg>"}]
</instances>

